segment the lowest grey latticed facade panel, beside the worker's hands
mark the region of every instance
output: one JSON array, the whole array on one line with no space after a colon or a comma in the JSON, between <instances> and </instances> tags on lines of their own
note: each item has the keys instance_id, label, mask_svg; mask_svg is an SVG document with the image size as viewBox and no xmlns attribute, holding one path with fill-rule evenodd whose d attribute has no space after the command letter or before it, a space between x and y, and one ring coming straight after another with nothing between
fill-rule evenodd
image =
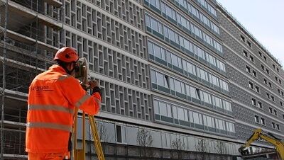
<instances>
[{"instance_id":1,"label":"lowest grey latticed facade panel, beside the worker's hands","mask_svg":"<svg viewBox=\"0 0 284 160\"><path fill-rule=\"evenodd\" d=\"M102 111L153 120L151 95L99 79L102 88Z\"/></svg>"}]
</instances>

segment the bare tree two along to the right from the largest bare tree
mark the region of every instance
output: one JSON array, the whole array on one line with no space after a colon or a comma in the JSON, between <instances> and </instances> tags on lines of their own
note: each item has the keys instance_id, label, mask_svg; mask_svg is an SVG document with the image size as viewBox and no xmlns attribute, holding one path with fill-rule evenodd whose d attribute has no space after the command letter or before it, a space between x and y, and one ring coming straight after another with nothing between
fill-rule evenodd
<instances>
[{"instance_id":1,"label":"bare tree two along to the right from the largest bare tree","mask_svg":"<svg viewBox=\"0 0 284 160\"><path fill-rule=\"evenodd\" d=\"M206 139L200 139L197 144L195 144L195 149L197 150L197 152L200 152L200 154L198 154L197 159L200 160L209 160L209 152L210 149L208 147L209 143L207 142ZM206 154L205 154L206 153Z\"/></svg>"}]
</instances>

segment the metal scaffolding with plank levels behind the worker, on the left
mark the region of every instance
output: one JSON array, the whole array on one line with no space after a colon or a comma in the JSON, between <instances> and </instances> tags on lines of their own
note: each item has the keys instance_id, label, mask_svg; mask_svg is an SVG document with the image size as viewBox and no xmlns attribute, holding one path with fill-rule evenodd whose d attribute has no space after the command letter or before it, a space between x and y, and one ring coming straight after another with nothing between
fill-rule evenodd
<instances>
[{"instance_id":1,"label":"metal scaffolding with plank levels behind the worker, on the left","mask_svg":"<svg viewBox=\"0 0 284 160\"><path fill-rule=\"evenodd\" d=\"M1 159L27 158L28 86L53 64L60 47L60 6L57 0L0 0ZM48 42L50 34L58 40Z\"/></svg>"}]
</instances>

